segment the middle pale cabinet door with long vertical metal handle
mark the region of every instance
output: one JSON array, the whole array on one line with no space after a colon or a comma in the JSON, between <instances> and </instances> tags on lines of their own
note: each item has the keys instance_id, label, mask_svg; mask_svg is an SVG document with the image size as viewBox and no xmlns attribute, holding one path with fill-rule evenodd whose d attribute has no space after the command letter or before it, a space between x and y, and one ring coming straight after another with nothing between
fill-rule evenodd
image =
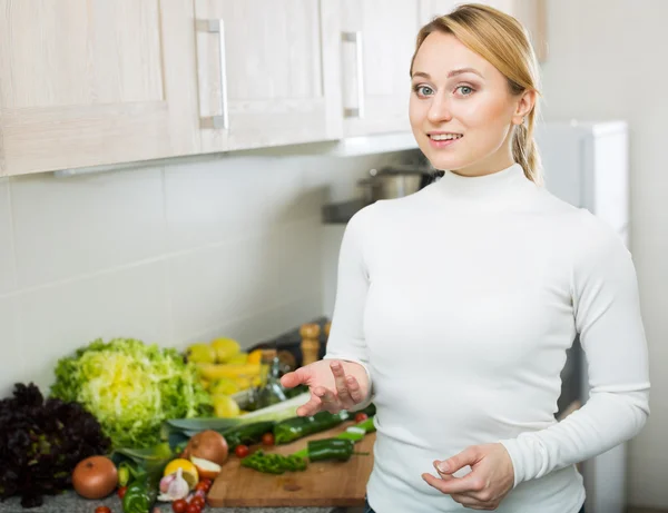
<instances>
[{"instance_id":1,"label":"middle pale cabinet door with long vertical metal handle","mask_svg":"<svg viewBox=\"0 0 668 513\"><path fill-rule=\"evenodd\" d=\"M195 0L204 151L341 137L336 10L331 0Z\"/></svg>"}]
</instances>

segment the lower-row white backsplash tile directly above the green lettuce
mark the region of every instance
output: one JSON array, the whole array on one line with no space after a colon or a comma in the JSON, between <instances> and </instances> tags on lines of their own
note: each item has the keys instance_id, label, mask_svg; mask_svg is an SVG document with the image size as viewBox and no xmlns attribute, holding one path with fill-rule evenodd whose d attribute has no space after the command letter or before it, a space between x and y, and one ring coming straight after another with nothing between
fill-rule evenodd
<instances>
[{"instance_id":1,"label":"lower-row white backsplash tile directly above the green lettuce","mask_svg":"<svg viewBox=\"0 0 668 513\"><path fill-rule=\"evenodd\" d=\"M46 386L58 358L96 338L168 341L164 266L131 266L17 296L20 345L39 355L26 363L26 376Z\"/></svg>"}]
</instances>

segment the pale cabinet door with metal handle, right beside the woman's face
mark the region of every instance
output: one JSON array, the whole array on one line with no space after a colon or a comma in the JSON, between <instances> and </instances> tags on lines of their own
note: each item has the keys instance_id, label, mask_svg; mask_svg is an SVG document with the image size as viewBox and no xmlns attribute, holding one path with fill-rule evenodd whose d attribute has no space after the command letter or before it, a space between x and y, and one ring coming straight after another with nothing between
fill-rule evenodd
<instances>
[{"instance_id":1,"label":"pale cabinet door with metal handle, right beside the woman's face","mask_svg":"<svg viewBox=\"0 0 668 513\"><path fill-rule=\"evenodd\" d=\"M342 0L344 132L407 131L418 0Z\"/></svg>"}]
</instances>

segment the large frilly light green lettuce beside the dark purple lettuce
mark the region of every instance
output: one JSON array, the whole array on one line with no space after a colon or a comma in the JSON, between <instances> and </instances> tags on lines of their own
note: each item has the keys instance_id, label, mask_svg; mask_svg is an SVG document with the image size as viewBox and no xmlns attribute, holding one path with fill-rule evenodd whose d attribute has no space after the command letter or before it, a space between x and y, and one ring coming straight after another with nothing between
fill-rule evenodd
<instances>
[{"instance_id":1,"label":"large frilly light green lettuce beside the dark purple lettuce","mask_svg":"<svg viewBox=\"0 0 668 513\"><path fill-rule=\"evenodd\" d=\"M82 404L114 447L154 446L164 421L213 410L194 364L174 348L131 338L97 339L61 358L50 394Z\"/></svg>"}]
</instances>

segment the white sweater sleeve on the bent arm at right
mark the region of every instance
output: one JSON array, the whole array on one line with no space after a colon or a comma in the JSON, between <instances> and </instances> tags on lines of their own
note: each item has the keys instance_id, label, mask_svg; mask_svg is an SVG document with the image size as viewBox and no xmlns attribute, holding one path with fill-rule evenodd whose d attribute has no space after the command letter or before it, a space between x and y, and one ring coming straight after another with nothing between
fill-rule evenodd
<instances>
[{"instance_id":1,"label":"white sweater sleeve on the bent arm at right","mask_svg":"<svg viewBox=\"0 0 668 513\"><path fill-rule=\"evenodd\" d=\"M501 441L512 458L515 486L632 438L649 415L648 355L636 270L621 239L600 223L584 220L591 229L580 241L571 279L589 399L558 424Z\"/></svg>"}]
</instances>

